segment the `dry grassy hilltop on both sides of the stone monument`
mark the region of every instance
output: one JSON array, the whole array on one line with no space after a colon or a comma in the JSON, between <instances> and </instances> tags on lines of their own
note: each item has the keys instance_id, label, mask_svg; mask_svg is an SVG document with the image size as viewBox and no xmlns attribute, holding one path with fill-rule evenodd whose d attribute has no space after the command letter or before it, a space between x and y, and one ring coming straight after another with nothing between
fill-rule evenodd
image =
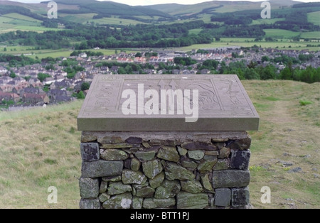
<instances>
[{"instance_id":1,"label":"dry grassy hilltop on both sides of the stone monument","mask_svg":"<svg viewBox=\"0 0 320 223\"><path fill-rule=\"evenodd\" d=\"M242 83L261 118L260 131L250 132L251 204L319 208L320 83ZM0 208L78 208L81 104L0 113ZM49 186L58 188L58 204L48 204ZM271 204L260 202L263 186Z\"/></svg>"}]
</instances>

